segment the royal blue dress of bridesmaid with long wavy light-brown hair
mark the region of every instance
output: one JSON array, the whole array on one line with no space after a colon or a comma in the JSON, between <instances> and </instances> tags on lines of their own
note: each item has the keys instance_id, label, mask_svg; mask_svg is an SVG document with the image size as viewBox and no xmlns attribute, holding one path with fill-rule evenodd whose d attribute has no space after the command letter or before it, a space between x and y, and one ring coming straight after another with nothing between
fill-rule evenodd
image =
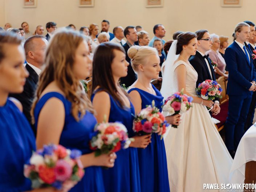
<instances>
[{"instance_id":1,"label":"royal blue dress of bridesmaid with long wavy light-brown hair","mask_svg":"<svg viewBox=\"0 0 256 192\"><path fill-rule=\"evenodd\" d=\"M97 121L92 113L86 111L84 117L77 122L71 114L71 102L62 94L57 92L46 93L37 102L34 109L35 126L40 111L44 104L52 97L60 99L65 107L65 124L60 136L60 144L69 149L78 149L82 154L89 154L89 136L94 130ZM69 192L104 192L103 177L101 167L92 166L84 169L85 175L82 180L75 185Z\"/></svg>"}]
</instances>

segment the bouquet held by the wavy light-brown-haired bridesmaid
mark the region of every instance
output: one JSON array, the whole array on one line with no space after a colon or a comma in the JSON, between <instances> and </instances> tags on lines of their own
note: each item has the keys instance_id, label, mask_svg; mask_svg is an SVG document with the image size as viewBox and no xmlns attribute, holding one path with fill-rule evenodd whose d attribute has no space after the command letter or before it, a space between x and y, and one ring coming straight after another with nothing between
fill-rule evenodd
<instances>
[{"instance_id":1,"label":"bouquet held by the wavy light-brown-haired bridesmaid","mask_svg":"<svg viewBox=\"0 0 256 192\"><path fill-rule=\"evenodd\" d=\"M132 141L126 127L118 122L97 124L90 138L90 148L95 151L95 156L126 149Z\"/></svg>"}]
</instances>

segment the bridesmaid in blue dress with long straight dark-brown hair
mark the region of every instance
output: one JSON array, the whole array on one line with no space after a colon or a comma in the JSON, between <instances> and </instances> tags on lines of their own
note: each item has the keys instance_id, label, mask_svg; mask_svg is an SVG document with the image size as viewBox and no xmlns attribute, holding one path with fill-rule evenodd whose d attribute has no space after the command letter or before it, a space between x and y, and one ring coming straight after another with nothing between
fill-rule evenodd
<instances>
[{"instance_id":1,"label":"bridesmaid in blue dress with long straight dark-brown hair","mask_svg":"<svg viewBox=\"0 0 256 192\"><path fill-rule=\"evenodd\" d=\"M118 83L127 75L128 65L121 46L111 43L99 45L93 58L92 101L98 122L119 121L126 126L131 138L134 137L134 107ZM135 137L129 148L117 152L115 166L103 170L106 192L141 191L137 147L145 148L149 142L150 135Z\"/></svg>"}]
</instances>

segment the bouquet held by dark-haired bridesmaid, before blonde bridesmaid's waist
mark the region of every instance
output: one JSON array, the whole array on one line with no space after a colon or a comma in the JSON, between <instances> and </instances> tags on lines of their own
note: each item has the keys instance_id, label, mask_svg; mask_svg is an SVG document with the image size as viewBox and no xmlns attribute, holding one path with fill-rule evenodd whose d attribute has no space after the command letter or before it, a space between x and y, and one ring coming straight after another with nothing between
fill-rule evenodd
<instances>
[{"instance_id":1,"label":"bouquet held by dark-haired bridesmaid, before blonde bridesmaid's waist","mask_svg":"<svg viewBox=\"0 0 256 192\"><path fill-rule=\"evenodd\" d=\"M155 107L154 100L152 101L152 106L147 106L135 116L133 124L133 130L138 135L146 135L156 132L161 135L161 139L166 132L166 127L169 126L163 114L159 112L157 107Z\"/></svg>"}]
</instances>

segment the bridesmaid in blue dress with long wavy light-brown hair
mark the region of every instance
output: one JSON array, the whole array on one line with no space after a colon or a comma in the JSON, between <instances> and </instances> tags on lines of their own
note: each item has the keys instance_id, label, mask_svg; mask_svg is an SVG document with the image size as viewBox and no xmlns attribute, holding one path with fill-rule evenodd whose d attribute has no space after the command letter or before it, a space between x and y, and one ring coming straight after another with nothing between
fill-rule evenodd
<instances>
[{"instance_id":1,"label":"bridesmaid in blue dress with long wavy light-brown hair","mask_svg":"<svg viewBox=\"0 0 256 192\"><path fill-rule=\"evenodd\" d=\"M46 51L46 67L32 106L38 148L54 143L82 151L85 176L70 192L104 192L100 166L113 167L116 158L114 153L95 157L89 147L97 121L79 80L89 76L90 62L81 34L70 30L56 33Z\"/></svg>"}]
</instances>

